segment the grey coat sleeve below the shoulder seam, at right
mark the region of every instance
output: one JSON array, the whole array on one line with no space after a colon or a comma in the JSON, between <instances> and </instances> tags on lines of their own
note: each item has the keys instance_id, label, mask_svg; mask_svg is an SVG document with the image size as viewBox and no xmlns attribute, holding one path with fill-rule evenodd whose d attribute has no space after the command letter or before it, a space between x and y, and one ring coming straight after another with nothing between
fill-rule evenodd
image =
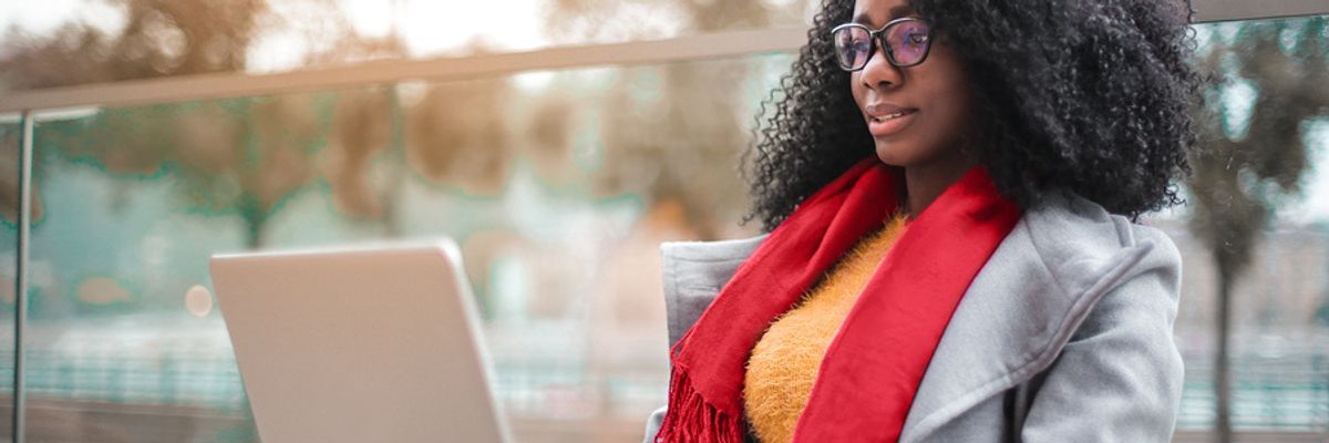
<instances>
[{"instance_id":1,"label":"grey coat sleeve below the shoulder seam, at right","mask_svg":"<svg viewBox=\"0 0 1329 443\"><path fill-rule=\"evenodd\" d=\"M1045 372L1023 442L1170 442L1181 402L1183 362L1172 341L1180 254L1166 234L1094 306Z\"/></svg>"}]
</instances>

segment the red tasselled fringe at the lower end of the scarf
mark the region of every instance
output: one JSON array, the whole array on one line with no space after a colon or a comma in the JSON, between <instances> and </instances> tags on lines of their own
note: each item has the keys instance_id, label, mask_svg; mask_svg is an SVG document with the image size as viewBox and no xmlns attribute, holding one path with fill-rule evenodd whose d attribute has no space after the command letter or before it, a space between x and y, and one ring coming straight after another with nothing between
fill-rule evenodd
<instances>
[{"instance_id":1,"label":"red tasselled fringe at the lower end of the scarf","mask_svg":"<svg viewBox=\"0 0 1329 443\"><path fill-rule=\"evenodd\" d=\"M668 410L655 443L743 443L743 423L715 408L675 362L670 374Z\"/></svg>"}]
</instances>

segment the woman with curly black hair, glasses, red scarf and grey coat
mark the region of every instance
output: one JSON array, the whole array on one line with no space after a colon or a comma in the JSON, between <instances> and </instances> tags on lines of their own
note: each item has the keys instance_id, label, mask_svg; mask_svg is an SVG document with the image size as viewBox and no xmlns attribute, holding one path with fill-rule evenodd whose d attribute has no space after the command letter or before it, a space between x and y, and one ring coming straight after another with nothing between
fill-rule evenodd
<instances>
[{"instance_id":1,"label":"woman with curly black hair, glasses, red scarf and grey coat","mask_svg":"<svg viewBox=\"0 0 1329 443\"><path fill-rule=\"evenodd\" d=\"M1188 172L1185 21L827 0L746 156L769 234L662 247L647 440L1170 440L1180 257L1132 221Z\"/></svg>"}]
</instances>

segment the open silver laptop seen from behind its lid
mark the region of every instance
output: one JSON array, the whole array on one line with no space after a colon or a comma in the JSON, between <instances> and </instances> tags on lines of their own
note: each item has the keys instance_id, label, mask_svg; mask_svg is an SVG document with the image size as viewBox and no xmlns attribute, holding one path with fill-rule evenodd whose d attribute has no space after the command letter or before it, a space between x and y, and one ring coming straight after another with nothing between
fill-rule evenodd
<instances>
[{"instance_id":1,"label":"open silver laptop seen from behind its lid","mask_svg":"<svg viewBox=\"0 0 1329 443\"><path fill-rule=\"evenodd\" d=\"M451 239L210 265L263 442L512 440Z\"/></svg>"}]
</instances>

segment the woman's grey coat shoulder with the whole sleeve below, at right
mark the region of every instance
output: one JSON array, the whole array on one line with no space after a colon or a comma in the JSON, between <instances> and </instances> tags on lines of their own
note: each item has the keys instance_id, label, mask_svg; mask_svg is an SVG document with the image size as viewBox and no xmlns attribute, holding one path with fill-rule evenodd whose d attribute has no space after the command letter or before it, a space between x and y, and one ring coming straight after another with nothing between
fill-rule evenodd
<instances>
[{"instance_id":1,"label":"woman's grey coat shoulder with the whole sleeve below, at right","mask_svg":"<svg viewBox=\"0 0 1329 443\"><path fill-rule=\"evenodd\" d=\"M1166 440L1184 362L1172 338L1181 259L1163 231L1067 197L1026 213L1027 235L1075 322L1042 374L1022 436ZM1086 400L1092 399L1092 400Z\"/></svg>"}]
</instances>

